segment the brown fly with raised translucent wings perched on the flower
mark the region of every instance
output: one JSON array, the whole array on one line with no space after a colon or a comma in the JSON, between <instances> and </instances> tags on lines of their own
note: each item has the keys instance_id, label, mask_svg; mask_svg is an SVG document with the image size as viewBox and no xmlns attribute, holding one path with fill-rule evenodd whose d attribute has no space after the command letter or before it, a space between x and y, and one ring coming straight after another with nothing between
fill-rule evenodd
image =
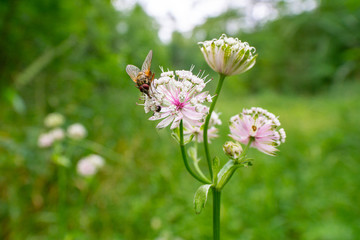
<instances>
[{"instance_id":1,"label":"brown fly with raised translucent wings perched on the flower","mask_svg":"<svg viewBox=\"0 0 360 240\"><path fill-rule=\"evenodd\" d=\"M140 92L145 93L149 98L149 89L152 81L154 80L155 73L150 71L152 59L152 50L149 51L148 55L145 58L145 61L141 67L141 71L138 67L134 65L127 65L126 72L130 78L136 83L136 87Z\"/></svg>"}]
</instances>

